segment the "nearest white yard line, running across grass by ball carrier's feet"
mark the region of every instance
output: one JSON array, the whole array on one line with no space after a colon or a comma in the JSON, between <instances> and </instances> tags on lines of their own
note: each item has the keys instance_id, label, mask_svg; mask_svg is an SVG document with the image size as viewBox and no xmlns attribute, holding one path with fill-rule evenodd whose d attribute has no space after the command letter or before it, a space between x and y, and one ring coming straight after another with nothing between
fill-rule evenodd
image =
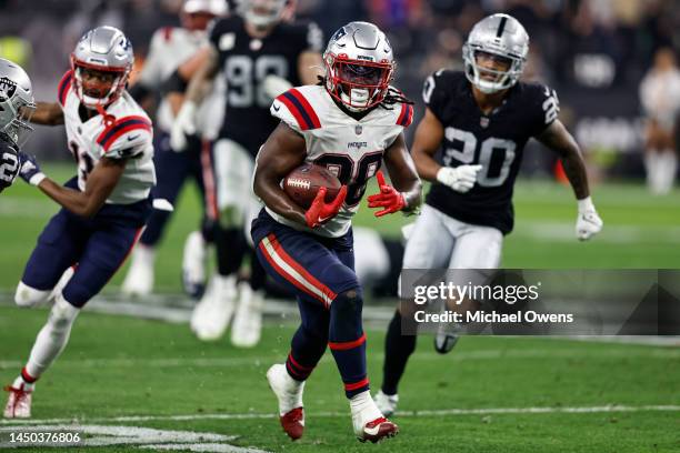
<instances>
[{"instance_id":1,"label":"nearest white yard line, running across grass by ball carrier's feet","mask_svg":"<svg viewBox=\"0 0 680 453\"><path fill-rule=\"evenodd\" d=\"M446 415L493 415L493 414L594 414L594 413L616 413L616 412L680 412L680 405L626 405L626 404L604 404L596 406L544 406L544 407L472 407L472 409L440 409L422 411L397 411L398 416L421 417L421 416L446 416ZM308 414L314 417L346 417L347 412L312 412ZM71 427L82 423L137 423L137 422L186 422L199 420L260 420L276 419L274 413L232 413L232 414L187 414L187 415L128 415L109 416L92 419L47 419L47 420L0 420L0 425L47 425L63 424Z\"/></svg>"}]
</instances>

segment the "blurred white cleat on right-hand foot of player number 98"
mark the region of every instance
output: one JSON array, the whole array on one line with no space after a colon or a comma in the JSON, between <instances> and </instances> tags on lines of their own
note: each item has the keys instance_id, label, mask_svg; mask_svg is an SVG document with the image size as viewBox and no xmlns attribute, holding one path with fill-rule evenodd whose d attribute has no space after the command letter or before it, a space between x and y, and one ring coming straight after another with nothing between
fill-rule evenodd
<instances>
[{"instance_id":1,"label":"blurred white cleat on right-hand foot of player number 98","mask_svg":"<svg viewBox=\"0 0 680 453\"><path fill-rule=\"evenodd\" d=\"M239 306L231 325L231 344L252 348L260 342L263 304L264 295L261 291L252 291L249 282L239 284Z\"/></svg>"}]
</instances>

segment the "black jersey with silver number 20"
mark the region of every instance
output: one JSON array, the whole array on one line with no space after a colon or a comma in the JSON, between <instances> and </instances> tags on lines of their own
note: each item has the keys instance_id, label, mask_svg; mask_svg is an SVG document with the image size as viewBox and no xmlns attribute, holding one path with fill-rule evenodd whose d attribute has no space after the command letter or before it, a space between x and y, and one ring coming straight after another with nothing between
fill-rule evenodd
<instances>
[{"instance_id":1,"label":"black jersey with silver number 20","mask_svg":"<svg viewBox=\"0 0 680 453\"><path fill-rule=\"evenodd\" d=\"M426 202L461 222L512 231L512 189L527 141L540 134L558 115L553 90L518 82L503 103L483 114L464 73L439 70L423 87L423 100L444 127L436 160L446 167L481 164L477 183L459 193L434 182Z\"/></svg>"}]
</instances>

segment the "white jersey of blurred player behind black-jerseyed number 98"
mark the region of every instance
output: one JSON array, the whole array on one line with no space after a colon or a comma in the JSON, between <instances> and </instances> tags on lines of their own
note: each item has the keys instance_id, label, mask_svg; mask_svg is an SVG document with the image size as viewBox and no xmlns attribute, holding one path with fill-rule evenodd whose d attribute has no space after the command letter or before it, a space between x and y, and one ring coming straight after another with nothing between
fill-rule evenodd
<instances>
[{"instance_id":1,"label":"white jersey of blurred player behind black-jerseyed number 98","mask_svg":"<svg viewBox=\"0 0 680 453\"><path fill-rule=\"evenodd\" d=\"M179 68L193 57L198 50L208 46L208 34L204 31L191 31L181 27L164 27L156 31L149 46L149 54L139 76L139 82L146 87L159 89L162 83ZM224 85L220 80L213 83L212 92L199 105L196 125L204 138L217 137L222 124L224 110ZM170 132L174 115L170 104L161 100L156 113L157 127Z\"/></svg>"}]
</instances>

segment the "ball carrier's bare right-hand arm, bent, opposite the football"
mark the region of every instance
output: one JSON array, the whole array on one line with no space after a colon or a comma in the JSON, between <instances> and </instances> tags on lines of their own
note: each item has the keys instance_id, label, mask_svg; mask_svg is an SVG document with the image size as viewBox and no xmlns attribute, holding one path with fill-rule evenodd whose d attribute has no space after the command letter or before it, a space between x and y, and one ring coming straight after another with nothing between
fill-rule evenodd
<instances>
[{"instance_id":1,"label":"ball carrier's bare right-hand arm, bent, opposite the football","mask_svg":"<svg viewBox=\"0 0 680 453\"><path fill-rule=\"evenodd\" d=\"M400 193L403 198L403 205L399 208L399 211L404 211L407 213L417 211L422 203L422 182L420 181L420 178L418 178L416 164L413 163L413 159L411 159L411 154L407 148L403 133L400 133L394 142L384 151L383 160L388 173L390 174L392 185L394 187L392 190L396 190L396 192ZM383 195L384 198L384 188L381 187L380 190L380 195ZM376 199L373 198L373 200ZM390 208L389 205L384 204L379 205ZM396 210L392 212L396 212ZM389 212L384 213L387 214ZM379 212L376 213L376 215L378 214Z\"/></svg>"}]
</instances>

